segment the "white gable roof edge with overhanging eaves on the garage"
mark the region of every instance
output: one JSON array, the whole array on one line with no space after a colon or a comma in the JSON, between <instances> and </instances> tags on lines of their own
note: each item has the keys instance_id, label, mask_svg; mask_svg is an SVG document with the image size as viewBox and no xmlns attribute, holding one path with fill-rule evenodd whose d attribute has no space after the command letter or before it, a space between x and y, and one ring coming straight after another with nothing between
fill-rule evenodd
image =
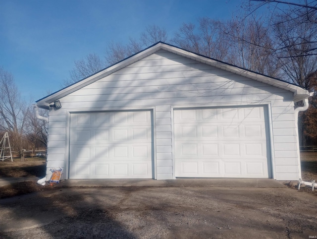
<instances>
[{"instance_id":1,"label":"white gable roof edge with overhanging eaves on the garage","mask_svg":"<svg viewBox=\"0 0 317 239\"><path fill-rule=\"evenodd\" d=\"M250 71L250 70L247 70L247 69L229 64L229 63L225 63L223 61L214 60L214 59L211 59L211 58L199 55L197 53L193 53L193 52L190 52L190 51L187 51L187 50L184 50L184 49L181 49L181 48L178 48L178 47L175 47L175 46L163 43L163 42L158 42L158 43L154 44L153 46L151 46L151 47L149 47L149 48L147 48L139 53L132 55L131 57L128 57L128 58L121 60L113 65L110 65L110 66L106 67L105 69L103 69L103 70L101 70L93 75L90 75L90 76L88 76L88 77L86 77L86 78L84 78L84 79L82 79L74 84L71 84L71 85L69 85L69 86L67 86L59 91L54 92L51 95L48 95L48 96L36 101L37 106L40 108L48 109L49 105L52 104L53 101L56 101L56 100L66 96L74 91L79 90L80 88L82 88L86 85L89 85L89 84L91 84L91 83L93 83L101 78L104 78L107 75L109 75L109 74L111 74L119 69L122 69L122 68L124 68L124 67L138 61L138 60L141 60L149 55L152 55L159 50L165 50L167 52L171 52L171 53L177 54L177 55L182 56L182 57L186 57L186 58L196 60L196 61L199 61L199 62L202 62L205 64L209 64L209 65L217 67L219 69L230 71L232 73L242 75L244 77L251 78L251 79L266 83L268 85L272 85L272 86L275 86L275 87L278 87L278 88L281 88L284 90L291 91L294 93L294 102L301 101L301 100L306 99L310 96L309 92L306 89L304 89L300 86L297 86L295 84L292 84L292 83L289 83L289 82L286 82L286 81L283 81L280 79L272 78L272 77L254 72L254 71Z\"/></svg>"}]
</instances>

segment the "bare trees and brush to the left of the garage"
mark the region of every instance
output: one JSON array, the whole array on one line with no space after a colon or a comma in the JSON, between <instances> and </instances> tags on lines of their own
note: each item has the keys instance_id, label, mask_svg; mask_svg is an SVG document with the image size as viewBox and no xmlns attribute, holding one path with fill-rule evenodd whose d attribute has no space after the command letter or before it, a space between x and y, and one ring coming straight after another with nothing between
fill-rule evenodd
<instances>
[{"instance_id":1,"label":"bare trees and brush to the left of the garage","mask_svg":"<svg viewBox=\"0 0 317 239\"><path fill-rule=\"evenodd\" d=\"M41 113L48 115L44 110ZM0 137L8 132L12 150L24 161L26 149L47 146L47 126L21 98L13 75L0 67Z\"/></svg>"}]
</instances>

